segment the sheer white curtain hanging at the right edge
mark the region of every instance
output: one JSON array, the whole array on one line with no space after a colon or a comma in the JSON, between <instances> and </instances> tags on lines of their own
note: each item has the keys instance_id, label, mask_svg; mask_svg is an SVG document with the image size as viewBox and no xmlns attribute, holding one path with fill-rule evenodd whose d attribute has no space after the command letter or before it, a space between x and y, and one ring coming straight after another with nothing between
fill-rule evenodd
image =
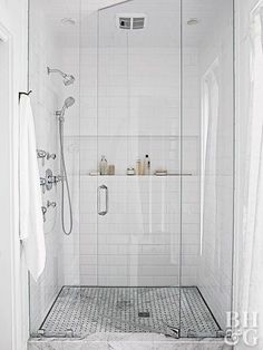
<instances>
[{"instance_id":1,"label":"sheer white curtain hanging at the right edge","mask_svg":"<svg viewBox=\"0 0 263 350\"><path fill-rule=\"evenodd\" d=\"M251 23L251 91L246 147L243 227L240 259L240 312L259 312L259 343L263 349L263 17ZM240 341L237 349L247 349Z\"/></svg>"}]
</instances>

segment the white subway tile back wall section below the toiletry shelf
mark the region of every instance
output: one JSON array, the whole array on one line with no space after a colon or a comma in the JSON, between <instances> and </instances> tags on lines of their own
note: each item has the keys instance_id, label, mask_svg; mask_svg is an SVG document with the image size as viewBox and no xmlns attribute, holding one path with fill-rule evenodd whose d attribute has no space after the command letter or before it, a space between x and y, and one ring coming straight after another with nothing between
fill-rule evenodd
<instances>
[{"instance_id":1,"label":"white subway tile back wall section below the toiletry shelf","mask_svg":"<svg viewBox=\"0 0 263 350\"><path fill-rule=\"evenodd\" d=\"M97 217L97 186L109 191L109 210ZM183 283L196 284L198 179L183 192ZM80 281L92 285L178 285L181 253L179 177L81 176Z\"/></svg>"}]
</instances>

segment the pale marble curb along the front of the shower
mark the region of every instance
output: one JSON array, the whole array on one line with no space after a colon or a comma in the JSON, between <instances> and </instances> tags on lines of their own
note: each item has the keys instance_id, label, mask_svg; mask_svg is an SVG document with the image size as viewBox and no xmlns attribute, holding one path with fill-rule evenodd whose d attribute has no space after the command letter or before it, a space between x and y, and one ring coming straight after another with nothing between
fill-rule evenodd
<instances>
[{"instance_id":1,"label":"pale marble curb along the front of the shower","mask_svg":"<svg viewBox=\"0 0 263 350\"><path fill-rule=\"evenodd\" d=\"M84 339L32 338L28 350L231 350L223 339L168 339L152 333L97 333Z\"/></svg>"}]
</instances>

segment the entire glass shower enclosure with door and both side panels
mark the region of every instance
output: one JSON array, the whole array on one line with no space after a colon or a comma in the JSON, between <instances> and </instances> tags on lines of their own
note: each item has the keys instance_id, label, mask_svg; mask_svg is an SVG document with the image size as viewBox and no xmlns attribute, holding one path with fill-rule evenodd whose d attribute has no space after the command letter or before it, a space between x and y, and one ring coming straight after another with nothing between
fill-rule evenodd
<instances>
[{"instance_id":1,"label":"entire glass shower enclosure with door and both side panels","mask_svg":"<svg viewBox=\"0 0 263 350\"><path fill-rule=\"evenodd\" d=\"M43 276L30 279L31 336L223 337L232 310L233 2L68 2L62 28L58 0L31 1L29 12L38 147L51 142L57 174L53 111L76 100L64 135L74 231L61 231L58 183L43 193L57 210L45 223ZM39 17L50 25L45 38L35 32ZM57 41L39 60L50 36ZM75 84L41 72L42 91L32 67L51 64Z\"/></svg>"}]
</instances>

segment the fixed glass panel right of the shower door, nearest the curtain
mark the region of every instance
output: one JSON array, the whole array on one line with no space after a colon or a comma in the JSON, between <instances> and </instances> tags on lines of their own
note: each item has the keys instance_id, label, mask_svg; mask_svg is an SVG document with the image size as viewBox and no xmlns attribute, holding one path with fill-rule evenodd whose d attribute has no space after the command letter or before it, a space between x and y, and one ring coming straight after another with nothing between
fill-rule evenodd
<instances>
[{"instance_id":1,"label":"fixed glass panel right of the shower door, nearest the curtain","mask_svg":"<svg viewBox=\"0 0 263 350\"><path fill-rule=\"evenodd\" d=\"M183 1L182 337L222 337L232 298L233 1ZM191 312L186 313L186 304Z\"/></svg>"}]
</instances>

